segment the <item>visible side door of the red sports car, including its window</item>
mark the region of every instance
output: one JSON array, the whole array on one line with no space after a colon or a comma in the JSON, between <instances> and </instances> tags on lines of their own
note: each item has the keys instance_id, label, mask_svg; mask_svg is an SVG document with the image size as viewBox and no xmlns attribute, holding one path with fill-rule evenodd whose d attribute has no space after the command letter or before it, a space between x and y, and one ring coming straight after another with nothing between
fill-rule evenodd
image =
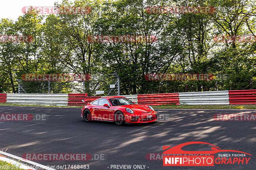
<instances>
[{"instance_id":1,"label":"visible side door of the red sports car, including its window","mask_svg":"<svg viewBox=\"0 0 256 170\"><path fill-rule=\"evenodd\" d=\"M104 104L108 104L109 108L103 106ZM102 120L112 120L112 106L107 99L99 99L99 105L96 106L94 115L98 118L101 118Z\"/></svg>"}]
</instances>

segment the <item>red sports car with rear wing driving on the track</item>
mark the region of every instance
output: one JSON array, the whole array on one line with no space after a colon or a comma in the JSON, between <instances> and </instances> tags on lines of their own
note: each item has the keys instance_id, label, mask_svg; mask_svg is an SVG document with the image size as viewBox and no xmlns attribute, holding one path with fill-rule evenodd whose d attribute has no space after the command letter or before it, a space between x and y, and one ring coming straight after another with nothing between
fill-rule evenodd
<instances>
[{"instance_id":1,"label":"red sports car with rear wing driving on the track","mask_svg":"<svg viewBox=\"0 0 256 170\"><path fill-rule=\"evenodd\" d=\"M135 104L122 96L102 97L96 100L82 100L87 103L81 110L85 122L102 120L124 123L149 123L157 121L157 113L151 107Z\"/></svg>"}]
</instances>

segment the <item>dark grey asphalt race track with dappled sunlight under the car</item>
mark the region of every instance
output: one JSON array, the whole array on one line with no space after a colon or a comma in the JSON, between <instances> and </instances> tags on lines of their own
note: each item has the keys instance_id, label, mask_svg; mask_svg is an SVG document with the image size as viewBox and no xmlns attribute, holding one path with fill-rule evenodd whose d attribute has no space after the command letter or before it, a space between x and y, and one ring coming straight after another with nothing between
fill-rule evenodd
<instances>
[{"instance_id":1,"label":"dark grey asphalt race track with dappled sunlight under the car","mask_svg":"<svg viewBox=\"0 0 256 170\"><path fill-rule=\"evenodd\" d=\"M117 126L111 122L84 122L80 108L0 106L3 113L46 114L47 120L0 121L0 150L24 153L104 154L105 160L35 161L43 165L89 165L109 170L111 165L145 165L145 169L255 169L255 121L215 121L216 113L256 113L256 110L156 110L153 124ZM214 166L163 166L148 160L148 153L163 153L163 146L202 141L221 149L252 154L248 164ZM202 146L188 148L201 150ZM142 166L143 167L143 166ZM133 169L133 168L132 168Z\"/></svg>"}]
</instances>

